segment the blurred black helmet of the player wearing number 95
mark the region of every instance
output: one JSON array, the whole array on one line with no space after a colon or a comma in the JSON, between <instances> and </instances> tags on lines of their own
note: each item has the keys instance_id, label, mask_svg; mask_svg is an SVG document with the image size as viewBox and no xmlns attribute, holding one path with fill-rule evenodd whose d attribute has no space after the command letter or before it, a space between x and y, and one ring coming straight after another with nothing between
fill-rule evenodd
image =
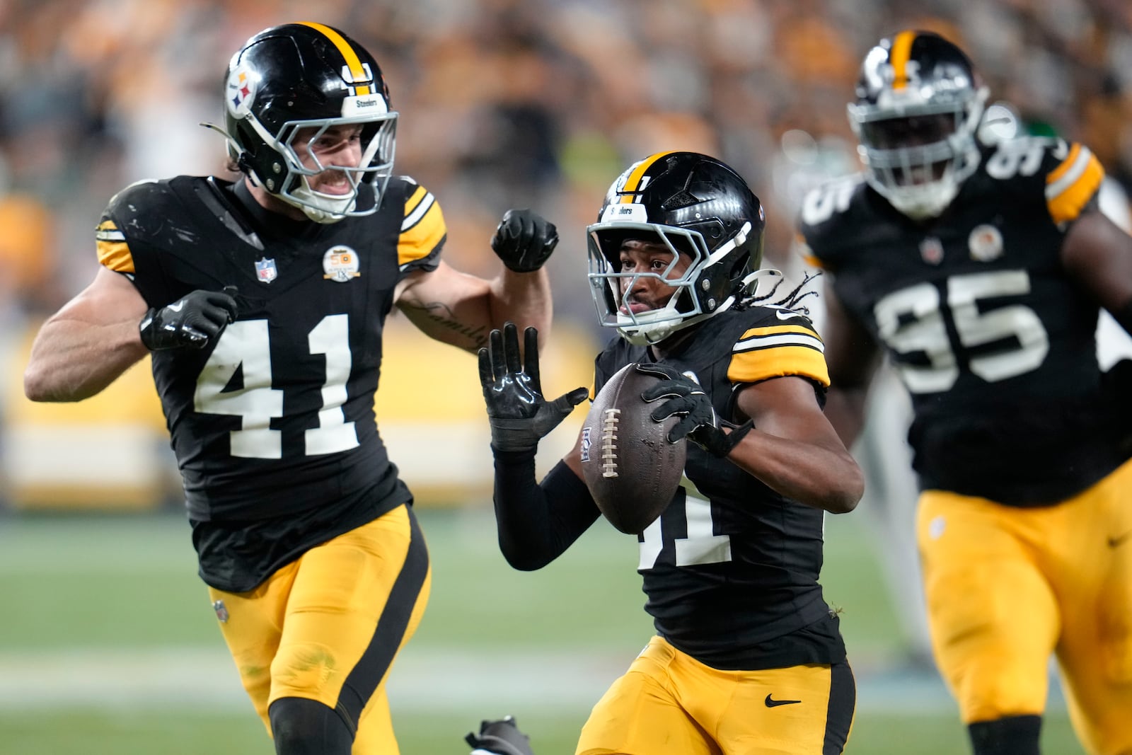
<instances>
[{"instance_id":1,"label":"blurred black helmet of the player wearing number 95","mask_svg":"<svg viewBox=\"0 0 1132 755\"><path fill-rule=\"evenodd\" d=\"M938 216L979 164L987 87L962 50L932 32L881 40L860 67L849 123L866 179L898 211Z\"/></svg>"}]
</instances>

